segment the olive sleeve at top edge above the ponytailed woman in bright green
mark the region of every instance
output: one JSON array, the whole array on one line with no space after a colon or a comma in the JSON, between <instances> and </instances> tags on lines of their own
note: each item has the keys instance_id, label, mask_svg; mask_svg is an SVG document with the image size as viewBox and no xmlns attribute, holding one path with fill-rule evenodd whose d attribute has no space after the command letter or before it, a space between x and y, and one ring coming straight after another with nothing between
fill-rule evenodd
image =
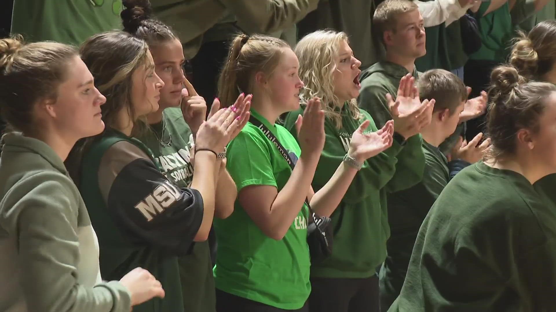
<instances>
[{"instance_id":1,"label":"olive sleeve at top edge above the ponytailed woman in bright green","mask_svg":"<svg viewBox=\"0 0 556 312\"><path fill-rule=\"evenodd\" d=\"M241 28L250 33L270 33L294 26L314 11L319 0L220 0Z\"/></svg>"}]
</instances>

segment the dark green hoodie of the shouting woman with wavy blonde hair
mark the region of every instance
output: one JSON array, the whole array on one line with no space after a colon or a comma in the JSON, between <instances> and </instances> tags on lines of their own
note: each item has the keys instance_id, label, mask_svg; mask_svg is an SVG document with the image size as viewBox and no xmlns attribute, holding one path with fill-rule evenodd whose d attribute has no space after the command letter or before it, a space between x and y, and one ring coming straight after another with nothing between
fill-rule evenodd
<instances>
[{"instance_id":1,"label":"dark green hoodie of the shouting woman with wavy blonde hair","mask_svg":"<svg viewBox=\"0 0 556 312\"><path fill-rule=\"evenodd\" d=\"M330 180L349 149L351 134L365 120L370 120L369 130L376 131L373 118L360 109L363 118L355 120L347 109L342 110L342 128L336 129L326 119L326 142L317 165L312 187L318 192ZM302 109L290 112L285 127L297 136L295 120ZM420 138L413 140L420 144ZM332 255L322 263L311 265L311 276L325 278L368 278L386 258L386 240L390 236L386 193L416 183L414 167L399 162L396 156L405 148L394 141L392 147L365 161L355 175L340 205L332 214L334 235ZM422 174L422 169L420 174Z\"/></svg>"}]
</instances>

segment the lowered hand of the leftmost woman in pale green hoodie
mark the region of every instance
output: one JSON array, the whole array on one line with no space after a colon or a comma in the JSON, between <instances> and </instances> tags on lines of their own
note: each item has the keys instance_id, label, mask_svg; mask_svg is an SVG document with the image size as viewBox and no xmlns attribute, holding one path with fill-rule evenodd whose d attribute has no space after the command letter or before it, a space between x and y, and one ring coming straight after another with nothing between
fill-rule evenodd
<instances>
[{"instance_id":1,"label":"lowered hand of the leftmost woman in pale green hoodie","mask_svg":"<svg viewBox=\"0 0 556 312\"><path fill-rule=\"evenodd\" d=\"M131 305L142 304L155 297L164 298L164 290L160 281L149 271L135 268L123 276L120 283L130 291Z\"/></svg>"}]
</instances>

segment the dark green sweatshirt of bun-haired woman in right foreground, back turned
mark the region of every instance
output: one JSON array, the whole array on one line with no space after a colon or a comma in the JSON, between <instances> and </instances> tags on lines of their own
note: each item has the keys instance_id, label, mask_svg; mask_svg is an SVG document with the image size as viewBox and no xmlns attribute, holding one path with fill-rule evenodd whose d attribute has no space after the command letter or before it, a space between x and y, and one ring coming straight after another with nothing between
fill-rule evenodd
<instances>
[{"instance_id":1,"label":"dark green sweatshirt of bun-haired woman in right foreground, back turned","mask_svg":"<svg viewBox=\"0 0 556 312\"><path fill-rule=\"evenodd\" d=\"M421 225L389 311L553 311L555 212L517 172L461 170Z\"/></svg>"}]
</instances>

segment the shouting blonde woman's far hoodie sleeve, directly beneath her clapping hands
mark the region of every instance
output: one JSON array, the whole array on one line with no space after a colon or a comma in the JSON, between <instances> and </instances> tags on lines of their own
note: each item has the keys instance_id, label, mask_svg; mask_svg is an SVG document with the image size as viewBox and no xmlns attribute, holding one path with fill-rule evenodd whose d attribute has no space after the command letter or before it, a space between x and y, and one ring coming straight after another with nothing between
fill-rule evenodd
<instances>
[{"instance_id":1,"label":"shouting blonde woman's far hoodie sleeve, directly beneath her clapping hands","mask_svg":"<svg viewBox=\"0 0 556 312\"><path fill-rule=\"evenodd\" d=\"M425 154L423 153L423 139L417 134L409 138L398 154L398 163L396 164L396 173L394 177L386 185L388 192L397 192L399 190L408 189L419 183L423 179L425 170Z\"/></svg>"}]
</instances>

